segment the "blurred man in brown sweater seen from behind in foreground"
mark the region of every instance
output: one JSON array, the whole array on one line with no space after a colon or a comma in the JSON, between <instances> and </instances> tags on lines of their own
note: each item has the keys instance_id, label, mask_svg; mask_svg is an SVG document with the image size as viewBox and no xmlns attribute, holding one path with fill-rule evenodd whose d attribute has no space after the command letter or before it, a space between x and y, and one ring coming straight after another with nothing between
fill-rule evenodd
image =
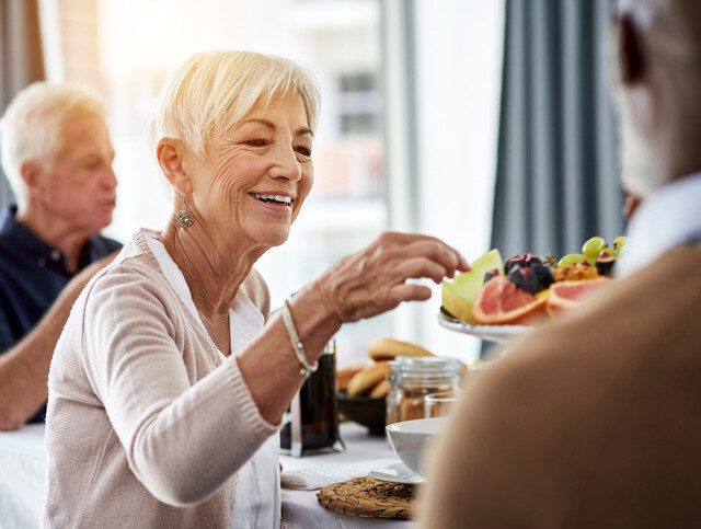
<instances>
[{"instance_id":1,"label":"blurred man in brown sweater seen from behind in foreground","mask_svg":"<svg viewBox=\"0 0 701 529\"><path fill-rule=\"evenodd\" d=\"M424 527L701 525L701 2L620 0L617 31L653 162L621 279L468 387Z\"/></svg>"}]
</instances>

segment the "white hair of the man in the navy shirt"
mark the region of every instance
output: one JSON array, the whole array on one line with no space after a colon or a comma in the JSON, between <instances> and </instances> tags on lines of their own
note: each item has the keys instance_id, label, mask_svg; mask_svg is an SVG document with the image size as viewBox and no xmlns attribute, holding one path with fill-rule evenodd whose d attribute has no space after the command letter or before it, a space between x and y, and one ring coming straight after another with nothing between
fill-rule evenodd
<instances>
[{"instance_id":1,"label":"white hair of the man in the navy shirt","mask_svg":"<svg viewBox=\"0 0 701 529\"><path fill-rule=\"evenodd\" d=\"M53 162L62 145L66 120L74 114L105 118L96 92L68 83L35 82L18 93L0 122L2 169L20 206L26 189L20 169L24 162Z\"/></svg>"}]
</instances>

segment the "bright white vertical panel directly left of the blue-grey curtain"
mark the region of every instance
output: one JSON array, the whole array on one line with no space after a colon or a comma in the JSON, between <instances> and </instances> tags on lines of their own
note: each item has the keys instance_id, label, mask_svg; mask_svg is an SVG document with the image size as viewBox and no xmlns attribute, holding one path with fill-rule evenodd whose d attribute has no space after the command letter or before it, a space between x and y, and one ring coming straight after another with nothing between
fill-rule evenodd
<instances>
[{"instance_id":1,"label":"bright white vertical panel directly left of the blue-grey curtain","mask_svg":"<svg viewBox=\"0 0 701 529\"><path fill-rule=\"evenodd\" d=\"M473 260L489 250L502 83L503 0L416 1L421 231ZM418 338L469 359L479 341L438 326L440 288Z\"/></svg>"}]
</instances>

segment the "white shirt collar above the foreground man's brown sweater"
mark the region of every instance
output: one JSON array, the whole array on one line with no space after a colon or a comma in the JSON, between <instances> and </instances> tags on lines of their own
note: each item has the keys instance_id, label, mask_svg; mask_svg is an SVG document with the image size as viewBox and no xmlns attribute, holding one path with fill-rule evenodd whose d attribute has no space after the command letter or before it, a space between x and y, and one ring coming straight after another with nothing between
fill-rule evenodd
<instances>
[{"instance_id":1,"label":"white shirt collar above the foreground man's brown sweater","mask_svg":"<svg viewBox=\"0 0 701 529\"><path fill-rule=\"evenodd\" d=\"M616 265L619 276L643 268L675 246L701 241L701 173L671 182L645 198L628 234Z\"/></svg>"}]
</instances>

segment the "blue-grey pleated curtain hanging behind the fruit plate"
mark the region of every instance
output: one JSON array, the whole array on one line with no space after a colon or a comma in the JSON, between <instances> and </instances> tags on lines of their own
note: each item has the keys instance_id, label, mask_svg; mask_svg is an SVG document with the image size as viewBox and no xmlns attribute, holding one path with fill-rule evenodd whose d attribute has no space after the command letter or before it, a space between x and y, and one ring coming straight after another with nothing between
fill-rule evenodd
<instances>
[{"instance_id":1,"label":"blue-grey pleated curtain hanging behind the fruit plate","mask_svg":"<svg viewBox=\"0 0 701 529\"><path fill-rule=\"evenodd\" d=\"M609 0L506 0L493 245L562 256L623 231Z\"/></svg>"}]
</instances>

